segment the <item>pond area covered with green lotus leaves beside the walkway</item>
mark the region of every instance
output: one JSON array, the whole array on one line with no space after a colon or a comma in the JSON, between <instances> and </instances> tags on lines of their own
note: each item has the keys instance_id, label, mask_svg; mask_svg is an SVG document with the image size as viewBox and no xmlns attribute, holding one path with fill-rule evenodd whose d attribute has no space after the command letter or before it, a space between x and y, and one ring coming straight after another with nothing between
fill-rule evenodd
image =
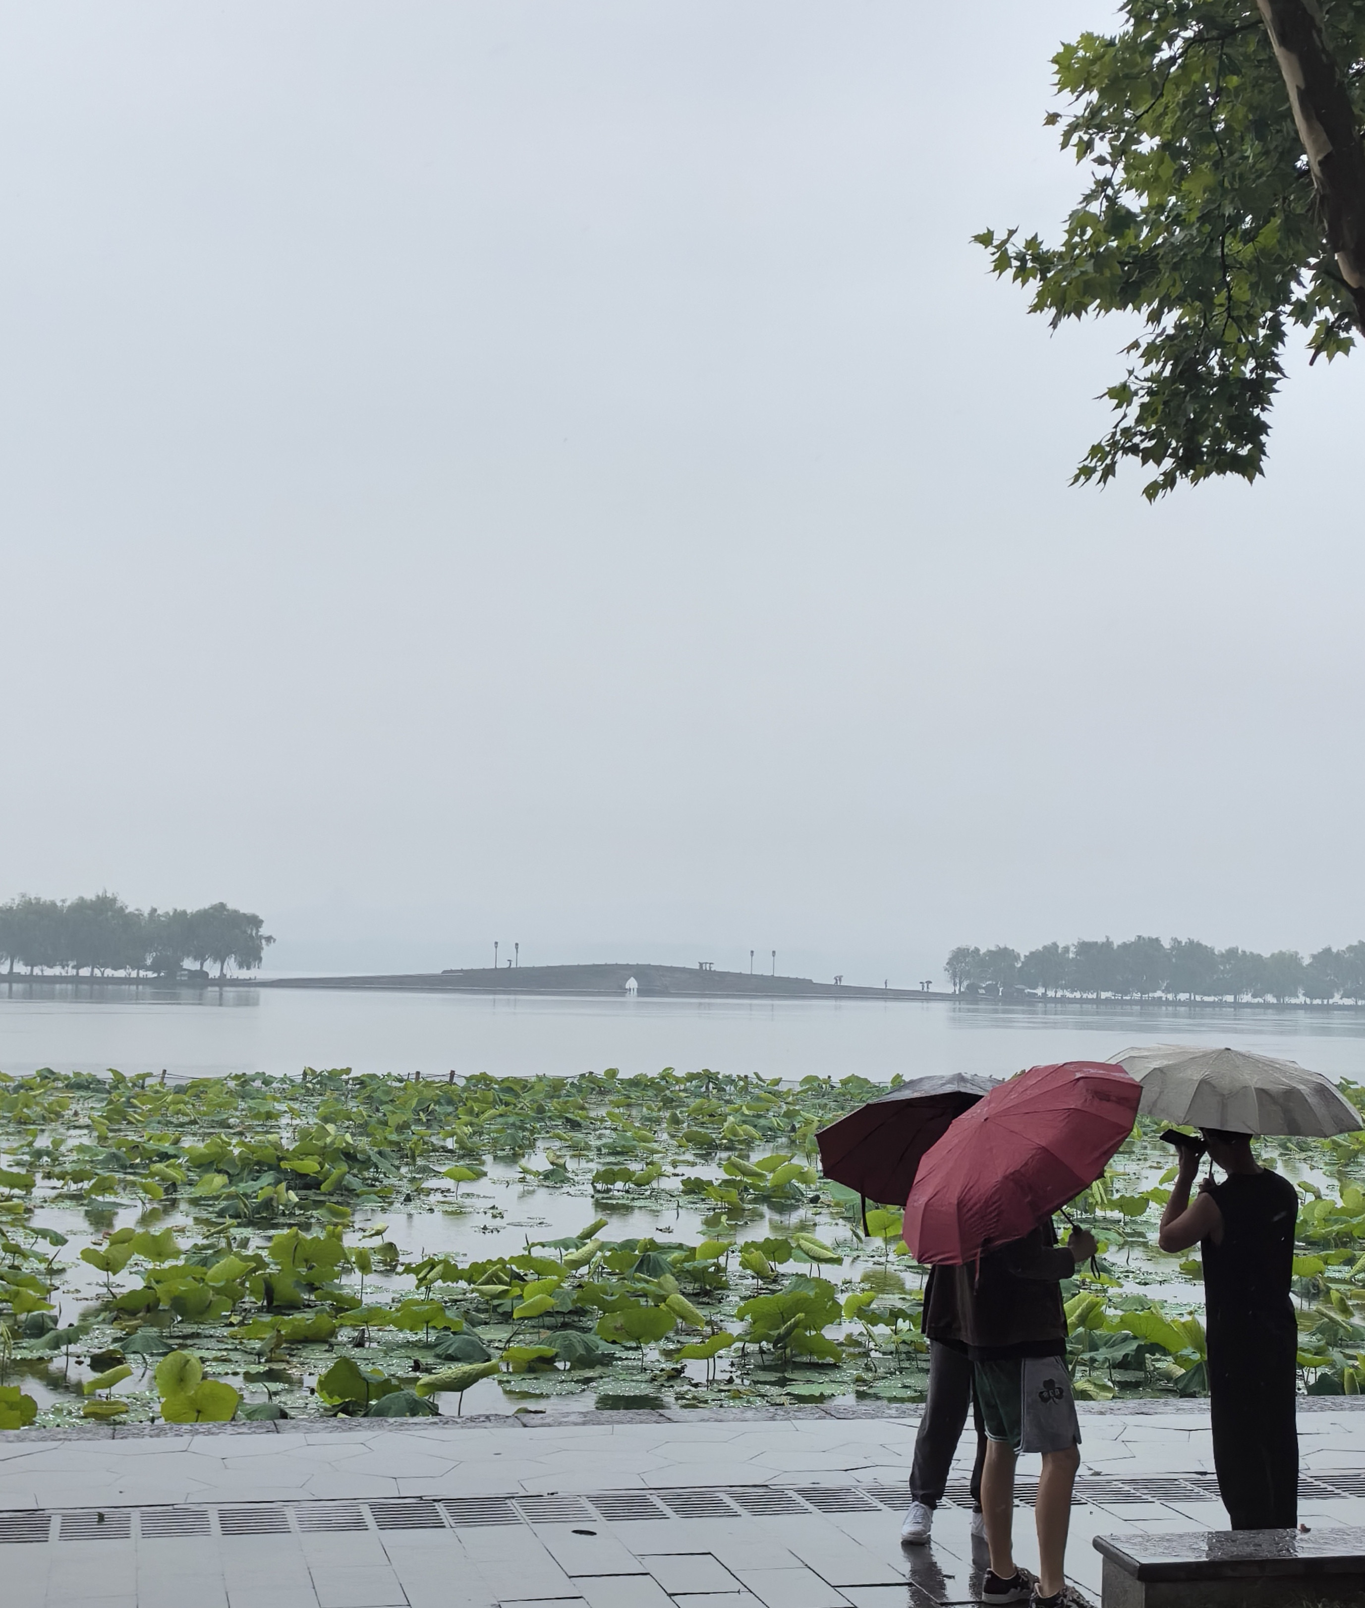
<instances>
[{"instance_id":1,"label":"pond area covered with green lotus leaves beside the walkway","mask_svg":"<svg viewBox=\"0 0 1365 1608\"><path fill-rule=\"evenodd\" d=\"M1352 1098L1365 1090L1342 1085ZM0 1077L0 1428L918 1401L900 1212L818 1174L884 1093L680 1074ZM1077 1394L1206 1389L1138 1124L1069 1208ZM1355 1393L1365 1132L1270 1140L1301 1192L1301 1375Z\"/></svg>"}]
</instances>

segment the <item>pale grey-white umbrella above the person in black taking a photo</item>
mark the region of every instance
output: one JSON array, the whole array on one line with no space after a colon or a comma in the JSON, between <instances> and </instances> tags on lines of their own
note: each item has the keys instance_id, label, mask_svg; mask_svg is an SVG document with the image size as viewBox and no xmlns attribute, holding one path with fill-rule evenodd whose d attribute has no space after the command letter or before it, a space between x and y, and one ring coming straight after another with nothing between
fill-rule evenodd
<instances>
[{"instance_id":1,"label":"pale grey-white umbrella above the person in black taking a photo","mask_svg":"<svg viewBox=\"0 0 1365 1608\"><path fill-rule=\"evenodd\" d=\"M1315 1138L1365 1127L1336 1084L1294 1061L1191 1044L1143 1044L1109 1060L1142 1084L1138 1111L1167 1122Z\"/></svg>"}]
</instances>

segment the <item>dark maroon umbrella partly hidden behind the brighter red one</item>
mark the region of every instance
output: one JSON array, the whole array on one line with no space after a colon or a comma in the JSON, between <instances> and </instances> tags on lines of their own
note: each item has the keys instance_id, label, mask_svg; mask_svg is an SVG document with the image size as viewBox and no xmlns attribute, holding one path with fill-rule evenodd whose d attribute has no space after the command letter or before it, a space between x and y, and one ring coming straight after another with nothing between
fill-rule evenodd
<instances>
[{"instance_id":1,"label":"dark maroon umbrella partly hidden behind the brighter red one","mask_svg":"<svg viewBox=\"0 0 1365 1608\"><path fill-rule=\"evenodd\" d=\"M924 1151L995 1087L971 1073L910 1077L815 1135L825 1177L870 1201L902 1206Z\"/></svg>"}]
</instances>

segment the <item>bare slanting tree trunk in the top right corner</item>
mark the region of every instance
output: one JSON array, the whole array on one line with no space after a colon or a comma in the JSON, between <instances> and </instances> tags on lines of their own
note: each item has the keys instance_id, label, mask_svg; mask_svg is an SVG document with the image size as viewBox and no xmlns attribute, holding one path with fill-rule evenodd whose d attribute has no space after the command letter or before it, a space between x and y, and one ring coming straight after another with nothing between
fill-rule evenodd
<instances>
[{"instance_id":1,"label":"bare slanting tree trunk in the top right corner","mask_svg":"<svg viewBox=\"0 0 1365 1608\"><path fill-rule=\"evenodd\" d=\"M1365 146L1341 68L1322 35L1318 0L1256 0L1322 204L1336 265L1365 331Z\"/></svg>"}]
</instances>

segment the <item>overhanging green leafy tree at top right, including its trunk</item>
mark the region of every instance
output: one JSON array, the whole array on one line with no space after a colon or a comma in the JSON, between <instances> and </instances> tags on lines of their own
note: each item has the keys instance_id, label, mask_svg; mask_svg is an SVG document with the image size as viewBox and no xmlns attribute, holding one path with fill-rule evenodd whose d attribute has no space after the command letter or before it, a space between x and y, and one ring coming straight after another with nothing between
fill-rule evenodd
<instances>
[{"instance_id":1,"label":"overhanging green leafy tree at top right, including its trunk","mask_svg":"<svg viewBox=\"0 0 1365 1608\"><path fill-rule=\"evenodd\" d=\"M1125 312L1143 331L1105 391L1117 418L1076 482L1121 463L1182 481L1264 473L1291 326L1312 362L1365 330L1365 0L1125 0L1116 34L1053 56L1087 185L1060 244L986 230L992 270L1053 328Z\"/></svg>"}]
</instances>

